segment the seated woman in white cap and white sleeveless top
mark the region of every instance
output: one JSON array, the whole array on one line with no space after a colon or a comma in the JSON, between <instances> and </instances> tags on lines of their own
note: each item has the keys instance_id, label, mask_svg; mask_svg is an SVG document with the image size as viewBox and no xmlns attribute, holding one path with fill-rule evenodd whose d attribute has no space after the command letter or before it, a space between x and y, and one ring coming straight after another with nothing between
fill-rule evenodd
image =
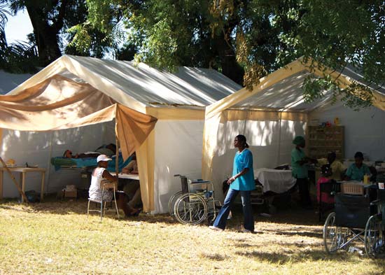
<instances>
[{"instance_id":1,"label":"seated woman in white cap and white sleeveless top","mask_svg":"<svg viewBox=\"0 0 385 275\"><path fill-rule=\"evenodd\" d=\"M109 181L117 180L116 176L112 176L109 171L106 170L110 160L111 159L106 155L99 155L99 157L97 157L97 167L94 169L94 171L92 171L91 186L90 190L88 191L90 199L102 199L102 186L100 185L102 179L107 179ZM103 193L103 200L106 202L111 202L112 198L113 192L111 190L105 190ZM128 199L124 193L116 192L116 199L118 208L125 212L125 216L132 216L139 213L139 209L134 209L127 204Z\"/></svg>"}]
</instances>

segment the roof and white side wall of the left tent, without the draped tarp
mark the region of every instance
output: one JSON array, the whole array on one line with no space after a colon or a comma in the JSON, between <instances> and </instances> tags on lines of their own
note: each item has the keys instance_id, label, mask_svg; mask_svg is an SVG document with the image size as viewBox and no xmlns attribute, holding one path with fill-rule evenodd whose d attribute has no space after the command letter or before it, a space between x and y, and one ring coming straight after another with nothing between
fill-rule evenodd
<instances>
[{"instance_id":1,"label":"roof and white side wall of the left tent, without the draped tarp","mask_svg":"<svg viewBox=\"0 0 385 275\"><path fill-rule=\"evenodd\" d=\"M145 64L64 55L10 95L21 94L48 79L57 81L55 87L62 87L64 79L89 85L99 94L94 104L104 106L111 101L158 118L155 130L137 148L141 189L142 185L146 188L142 189L142 199L148 201L145 210L155 213L167 211L169 197L180 189L174 174L201 175L204 107L240 88L210 69L182 67L177 73L168 73ZM76 113L80 109L73 110Z\"/></svg>"}]
</instances>

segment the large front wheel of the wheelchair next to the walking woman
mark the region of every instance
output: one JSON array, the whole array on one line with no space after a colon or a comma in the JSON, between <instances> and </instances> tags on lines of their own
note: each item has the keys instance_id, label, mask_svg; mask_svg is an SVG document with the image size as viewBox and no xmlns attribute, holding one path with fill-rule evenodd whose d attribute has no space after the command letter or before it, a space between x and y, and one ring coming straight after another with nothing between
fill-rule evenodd
<instances>
[{"instance_id":1,"label":"large front wheel of the wheelchair next to the walking woman","mask_svg":"<svg viewBox=\"0 0 385 275\"><path fill-rule=\"evenodd\" d=\"M207 203L202 196L187 193L176 200L174 214L179 223L198 225L207 218Z\"/></svg>"}]
</instances>

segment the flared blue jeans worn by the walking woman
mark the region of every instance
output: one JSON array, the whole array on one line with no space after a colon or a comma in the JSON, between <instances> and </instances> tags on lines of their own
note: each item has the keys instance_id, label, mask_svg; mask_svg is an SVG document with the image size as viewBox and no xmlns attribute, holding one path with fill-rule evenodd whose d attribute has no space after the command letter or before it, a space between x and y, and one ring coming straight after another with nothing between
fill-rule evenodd
<instances>
[{"instance_id":1,"label":"flared blue jeans worn by the walking woman","mask_svg":"<svg viewBox=\"0 0 385 275\"><path fill-rule=\"evenodd\" d=\"M230 210L232 208L232 204L235 201L235 197L237 197L238 193L241 192L242 199L242 209L244 211L244 228L246 230L254 231L254 218L253 218L253 209L251 208L250 202L250 193L251 191L239 191L229 189L228 195L226 195L225 202L223 202L223 206L216 216L214 220L214 226L225 229L226 221L228 220L228 216Z\"/></svg>"}]
</instances>

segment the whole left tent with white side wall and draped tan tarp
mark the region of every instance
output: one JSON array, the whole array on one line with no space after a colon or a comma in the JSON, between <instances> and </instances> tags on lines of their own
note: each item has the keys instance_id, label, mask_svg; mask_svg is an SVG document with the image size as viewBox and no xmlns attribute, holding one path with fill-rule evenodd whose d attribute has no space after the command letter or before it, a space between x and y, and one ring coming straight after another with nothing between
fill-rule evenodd
<instances>
[{"instance_id":1,"label":"whole left tent with white side wall and draped tan tarp","mask_svg":"<svg viewBox=\"0 0 385 275\"><path fill-rule=\"evenodd\" d=\"M5 97L19 97L25 104L28 101L28 93L44 90L50 92L50 104L55 106L67 100L68 94L71 94L71 99L73 97L77 100L90 99L87 101L88 106L66 107L59 116L56 113L57 121L53 119L54 116L47 117L47 124L52 126L56 123L56 127L45 128L43 120L36 124L33 120L29 120L28 124L22 124L5 121L2 118L0 127L42 131L93 125L109 120L111 108L120 108L113 107L114 104L122 108L128 107L125 110L129 112L131 110L157 118L155 130L148 136L143 136L144 141L134 146L134 149L137 150L145 210L162 213L167 211L170 195L181 188L180 183L173 177L174 174L187 174L196 178L201 175L204 107L239 88L239 85L232 80L210 69L183 67L176 73L168 73L145 64L64 55ZM0 98L0 102L6 108L13 108L6 100L1 101ZM71 101L71 104L76 102ZM23 107L23 110L31 111L29 108L34 104L36 104L34 101L27 102L29 107ZM42 102L39 101L39 104ZM93 108L96 113L85 112L88 108ZM106 111L107 109L109 111ZM41 117L41 114L33 113L33 115ZM18 127L12 127L16 124ZM130 123L120 125L120 133L129 134L125 133L125 126L128 124ZM119 129L117 132L119 134ZM56 134L55 136L61 139L61 136ZM119 137L121 138L122 136ZM123 144L125 157L131 152L128 150L130 144L132 142L127 142L127 146ZM71 145L72 143L68 144L67 148ZM7 156L12 157L12 152L8 151Z\"/></svg>"}]
</instances>

